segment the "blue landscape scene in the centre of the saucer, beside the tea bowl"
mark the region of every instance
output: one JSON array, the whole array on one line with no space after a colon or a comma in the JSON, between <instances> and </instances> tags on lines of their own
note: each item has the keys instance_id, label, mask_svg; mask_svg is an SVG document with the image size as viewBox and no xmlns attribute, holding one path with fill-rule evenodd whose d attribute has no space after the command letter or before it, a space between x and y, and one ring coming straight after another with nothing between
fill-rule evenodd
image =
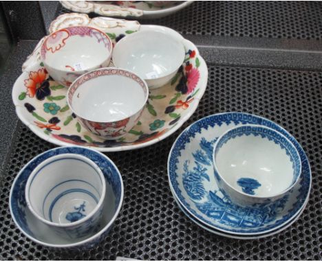
<instances>
[{"instance_id":1,"label":"blue landscape scene in the centre of the saucer, beside the tea bowl","mask_svg":"<svg viewBox=\"0 0 322 262\"><path fill-rule=\"evenodd\" d=\"M206 191L202 180L209 180L209 177L205 173L206 168L204 168L204 165L211 165L212 156L209 158L207 152L213 152L214 143L215 140L206 141L206 139L202 139L200 141L200 148L202 150L197 150L197 152L192 153L193 158L195 158L193 171L189 171L187 161L184 163L185 173L182 175L182 182L186 193L188 193L193 201L206 198L206 201L202 203L195 201L197 209L208 217L221 219L222 223L228 224L229 226L237 225L252 228L274 221L277 212L284 208L288 200L288 195L277 202L258 204L252 206L251 209L245 209L231 202L228 195L221 189L217 191Z\"/></svg>"}]
</instances>

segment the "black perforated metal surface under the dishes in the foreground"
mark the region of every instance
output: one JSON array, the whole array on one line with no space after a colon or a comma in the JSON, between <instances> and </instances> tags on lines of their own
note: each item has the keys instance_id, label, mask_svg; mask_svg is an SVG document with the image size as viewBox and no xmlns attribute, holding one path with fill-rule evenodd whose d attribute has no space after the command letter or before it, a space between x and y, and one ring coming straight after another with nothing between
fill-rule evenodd
<instances>
[{"instance_id":1,"label":"black perforated metal surface under the dishes in the foreground","mask_svg":"<svg viewBox=\"0 0 322 262\"><path fill-rule=\"evenodd\" d=\"M322 73L209 67L208 88L188 124L217 112L250 112L275 121L303 145L312 167L304 213L279 235L253 241L212 235L191 222L171 195L167 156L179 132L142 150L108 154L119 167L125 200L111 233L92 250L49 250L14 226L8 208L12 180L36 154L53 147L21 124L1 178L1 259L322 259Z\"/></svg>"}]
</instances>

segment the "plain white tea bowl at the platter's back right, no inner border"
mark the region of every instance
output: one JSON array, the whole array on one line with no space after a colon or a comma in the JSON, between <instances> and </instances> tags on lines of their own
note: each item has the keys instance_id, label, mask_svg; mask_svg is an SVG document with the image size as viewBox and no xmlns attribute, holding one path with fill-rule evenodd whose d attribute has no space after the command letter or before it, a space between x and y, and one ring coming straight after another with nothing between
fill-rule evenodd
<instances>
[{"instance_id":1,"label":"plain white tea bowl at the platter's back right, no inner border","mask_svg":"<svg viewBox=\"0 0 322 262\"><path fill-rule=\"evenodd\" d=\"M149 88L158 88L173 78L184 56L180 40L164 32L144 30L118 41L112 59L116 67L140 75Z\"/></svg>"}]
</instances>

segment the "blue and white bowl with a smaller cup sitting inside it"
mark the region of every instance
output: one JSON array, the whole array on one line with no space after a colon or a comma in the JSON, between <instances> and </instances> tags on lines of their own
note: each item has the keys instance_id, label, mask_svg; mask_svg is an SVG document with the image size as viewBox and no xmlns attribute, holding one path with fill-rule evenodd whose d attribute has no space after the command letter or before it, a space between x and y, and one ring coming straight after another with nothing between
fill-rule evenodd
<instances>
[{"instance_id":1,"label":"blue and white bowl with a smaller cup sitting inside it","mask_svg":"<svg viewBox=\"0 0 322 262\"><path fill-rule=\"evenodd\" d=\"M28 209L25 200L27 180L40 163L52 156L60 154L78 154L92 160L105 177L106 193L103 204L103 217L95 231L90 231L86 237L66 239L57 234L52 228L45 226ZM10 213L17 227L32 241L52 248L92 248L102 240L114 224L120 212L124 189L122 177L114 163L104 154L85 147L57 147L32 158L14 179L10 191Z\"/></svg>"}]
</instances>

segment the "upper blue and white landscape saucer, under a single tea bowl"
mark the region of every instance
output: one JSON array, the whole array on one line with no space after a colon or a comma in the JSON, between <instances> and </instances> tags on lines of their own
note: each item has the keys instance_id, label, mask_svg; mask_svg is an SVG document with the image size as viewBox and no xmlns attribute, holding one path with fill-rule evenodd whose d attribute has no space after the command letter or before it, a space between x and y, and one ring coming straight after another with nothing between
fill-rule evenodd
<instances>
[{"instance_id":1,"label":"upper blue and white landscape saucer, under a single tea bowl","mask_svg":"<svg viewBox=\"0 0 322 262\"><path fill-rule=\"evenodd\" d=\"M217 186L213 145L227 130L245 124L277 130L297 148L301 176L286 198L245 208L231 202ZM204 117L186 128L171 148L168 175L174 197L189 215L209 228L238 235L261 235L288 224L301 212L312 182L308 158L291 134L268 119L241 112Z\"/></svg>"}]
</instances>

